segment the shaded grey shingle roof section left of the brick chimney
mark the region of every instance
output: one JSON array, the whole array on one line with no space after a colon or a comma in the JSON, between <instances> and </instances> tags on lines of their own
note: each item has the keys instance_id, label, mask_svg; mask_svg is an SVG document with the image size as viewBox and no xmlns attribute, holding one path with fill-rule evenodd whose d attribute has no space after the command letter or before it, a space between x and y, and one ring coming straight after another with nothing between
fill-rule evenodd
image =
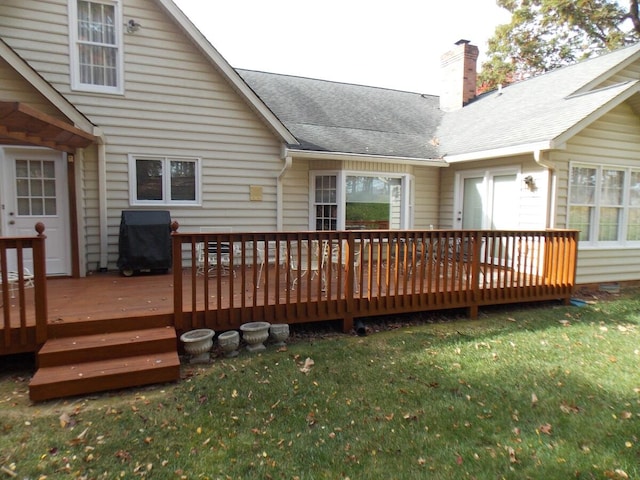
<instances>
[{"instance_id":1,"label":"shaded grey shingle roof section left of the brick chimney","mask_svg":"<svg viewBox=\"0 0 640 480\"><path fill-rule=\"evenodd\" d=\"M432 95L238 70L304 150L438 158Z\"/></svg>"}]
</instances>

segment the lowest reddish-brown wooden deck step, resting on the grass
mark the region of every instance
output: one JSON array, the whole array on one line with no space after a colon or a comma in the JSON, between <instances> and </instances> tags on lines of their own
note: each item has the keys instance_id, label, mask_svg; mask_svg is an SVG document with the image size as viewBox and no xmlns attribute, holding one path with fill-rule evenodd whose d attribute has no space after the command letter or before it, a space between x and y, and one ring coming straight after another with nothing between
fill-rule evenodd
<instances>
[{"instance_id":1,"label":"lowest reddish-brown wooden deck step, resting on the grass","mask_svg":"<svg viewBox=\"0 0 640 480\"><path fill-rule=\"evenodd\" d=\"M180 378L177 351L39 368L29 383L34 402L53 398L174 382Z\"/></svg>"}]
</instances>

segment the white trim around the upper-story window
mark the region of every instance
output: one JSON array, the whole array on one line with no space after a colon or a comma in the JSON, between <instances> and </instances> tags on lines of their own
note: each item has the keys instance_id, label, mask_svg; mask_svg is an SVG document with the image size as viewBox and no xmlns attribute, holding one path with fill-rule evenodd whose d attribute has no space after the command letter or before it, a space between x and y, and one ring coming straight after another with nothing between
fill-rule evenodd
<instances>
[{"instance_id":1,"label":"white trim around the upper-story window","mask_svg":"<svg viewBox=\"0 0 640 480\"><path fill-rule=\"evenodd\" d=\"M123 41L123 15L121 0L83 0L90 3L112 5L115 12L116 30L116 86L95 85L80 82L80 60L78 58L78 1L69 1L69 69L71 75L71 89L82 92L105 93L122 95L124 93L124 41Z\"/></svg>"}]
</instances>

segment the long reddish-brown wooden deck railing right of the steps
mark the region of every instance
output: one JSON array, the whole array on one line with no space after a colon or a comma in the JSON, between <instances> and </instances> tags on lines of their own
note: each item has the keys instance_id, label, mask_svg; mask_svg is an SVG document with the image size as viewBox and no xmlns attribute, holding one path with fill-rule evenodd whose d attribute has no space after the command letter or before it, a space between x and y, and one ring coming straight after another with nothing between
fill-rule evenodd
<instances>
[{"instance_id":1,"label":"long reddish-brown wooden deck railing right of the steps","mask_svg":"<svg viewBox=\"0 0 640 480\"><path fill-rule=\"evenodd\" d=\"M577 231L173 233L179 331L561 299Z\"/></svg>"}]
</instances>

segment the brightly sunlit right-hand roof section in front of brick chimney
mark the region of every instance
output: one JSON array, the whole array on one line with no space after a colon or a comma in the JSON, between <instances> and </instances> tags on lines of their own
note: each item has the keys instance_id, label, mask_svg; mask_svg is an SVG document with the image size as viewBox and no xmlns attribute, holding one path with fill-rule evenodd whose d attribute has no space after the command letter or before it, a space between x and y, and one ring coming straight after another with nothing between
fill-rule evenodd
<instances>
[{"instance_id":1,"label":"brightly sunlit right-hand roof section in front of brick chimney","mask_svg":"<svg viewBox=\"0 0 640 480\"><path fill-rule=\"evenodd\" d=\"M593 89L630 62L640 62L640 44L487 93L443 118L441 153L456 161L500 149L561 148L607 109L637 96L640 79Z\"/></svg>"}]
</instances>

